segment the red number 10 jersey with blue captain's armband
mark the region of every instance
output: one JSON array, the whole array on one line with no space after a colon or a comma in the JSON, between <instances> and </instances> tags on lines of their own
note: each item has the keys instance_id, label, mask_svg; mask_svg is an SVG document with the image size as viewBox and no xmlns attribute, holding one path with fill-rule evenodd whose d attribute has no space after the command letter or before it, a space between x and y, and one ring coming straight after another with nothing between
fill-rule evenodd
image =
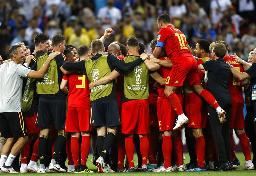
<instances>
[{"instance_id":1,"label":"red number 10 jersey with blue captain's armband","mask_svg":"<svg viewBox=\"0 0 256 176\"><path fill-rule=\"evenodd\" d=\"M176 64L184 57L192 57L187 47L186 36L171 25L159 30L156 46L165 49L173 64Z\"/></svg>"}]
</instances>

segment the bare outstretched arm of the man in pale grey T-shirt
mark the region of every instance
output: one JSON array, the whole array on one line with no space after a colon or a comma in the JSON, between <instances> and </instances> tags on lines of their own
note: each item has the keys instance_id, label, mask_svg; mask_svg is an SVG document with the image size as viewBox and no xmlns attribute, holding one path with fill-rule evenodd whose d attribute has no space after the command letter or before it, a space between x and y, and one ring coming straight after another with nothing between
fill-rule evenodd
<instances>
[{"instance_id":1,"label":"bare outstretched arm of the man in pale grey T-shirt","mask_svg":"<svg viewBox=\"0 0 256 176\"><path fill-rule=\"evenodd\" d=\"M45 64L42 66L42 68L40 68L39 71L34 71L34 70L31 70L29 71L28 73L28 78L43 78L46 71L48 70L49 66L50 66L50 63L51 61L57 56L59 55L60 52L58 51L55 51L55 52L52 52L49 57L47 58L47 60L45 61Z\"/></svg>"}]
</instances>

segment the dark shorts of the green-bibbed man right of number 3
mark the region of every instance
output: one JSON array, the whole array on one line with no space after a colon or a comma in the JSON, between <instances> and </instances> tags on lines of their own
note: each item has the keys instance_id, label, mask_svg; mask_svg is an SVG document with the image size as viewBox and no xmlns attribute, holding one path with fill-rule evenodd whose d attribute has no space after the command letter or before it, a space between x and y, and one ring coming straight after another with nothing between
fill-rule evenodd
<instances>
[{"instance_id":1,"label":"dark shorts of the green-bibbed man right of number 3","mask_svg":"<svg viewBox=\"0 0 256 176\"><path fill-rule=\"evenodd\" d=\"M120 125L117 101L106 100L92 102L90 125L96 127L114 127Z\"/></svg>"}]
</instances>

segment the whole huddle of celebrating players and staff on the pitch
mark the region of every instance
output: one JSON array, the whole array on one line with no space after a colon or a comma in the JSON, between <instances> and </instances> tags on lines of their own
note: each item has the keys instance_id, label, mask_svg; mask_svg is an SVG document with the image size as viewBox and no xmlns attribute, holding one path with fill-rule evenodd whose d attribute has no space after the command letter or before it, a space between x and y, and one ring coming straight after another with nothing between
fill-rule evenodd
<instances>
[{"instance_id":1,"label":"whole huddle of celebrating players and staff on the pitch","mask_svg":"<svg viewBox=\"0 0 256 176\"><path fill-rule=\"evenodd\" d=\"M99 173L227 171L240 165L233 129L245 156L238 170L254 169L242 96L254 65L229 56L224 41L200 39L190 49L168 14L157 25L151 51L129 37L127 46L114 42L104 53L110 28L90 47L42 33L32 54L24 43L13 45L10 62L0 65L0 172L18 173L13 164L21 154L20 173L93 173L90 147Z\"/></svg>"}]
</instances>

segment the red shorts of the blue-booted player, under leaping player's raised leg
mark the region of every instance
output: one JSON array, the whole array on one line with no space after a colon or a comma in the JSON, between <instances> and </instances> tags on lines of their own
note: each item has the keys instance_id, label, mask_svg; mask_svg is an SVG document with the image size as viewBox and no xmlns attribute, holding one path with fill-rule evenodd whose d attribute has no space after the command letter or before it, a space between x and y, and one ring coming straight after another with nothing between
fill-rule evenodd
<instances>
[{"instance_id":1,"label":"red shorts of the blue-booted player, under leaping player's raised leg","mask_svg":"<svg viewBox=\"0 0 256 176\"><path fill-rule=\"evenodd\" d=\"M185 110L188 117L188 128L206 128L206 116L203 110L203 101L196 93L185 96Z\"/></svg>"}]
</instances>

